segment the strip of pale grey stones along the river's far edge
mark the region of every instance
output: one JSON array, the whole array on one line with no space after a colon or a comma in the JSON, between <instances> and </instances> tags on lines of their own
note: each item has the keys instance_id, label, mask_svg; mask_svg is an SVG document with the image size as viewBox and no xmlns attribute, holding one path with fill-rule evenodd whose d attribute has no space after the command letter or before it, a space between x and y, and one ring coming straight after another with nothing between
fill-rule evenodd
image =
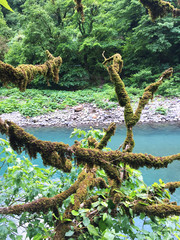
<instances>
[{"instance_id":1,"label":"strip of pale grey stones along the river's far edge","mask_svg":"<svg viewBox=\"0 0 180 240\"><path fill-rule=\"evenodd\" d=\"M132 102L133 109L137 102ZM124 122L123 108L99 109L95 104L82 104L67 107L63 110L36 116L24 117L18 112L1 114L0 117L17 123L19 126L43 127L76 127L76 126L105 126L111 122L122 124ZM180 121L180 98L155 97L147 104L142 112L139 123L165 123Z\"/></svg>"}]
</instances>

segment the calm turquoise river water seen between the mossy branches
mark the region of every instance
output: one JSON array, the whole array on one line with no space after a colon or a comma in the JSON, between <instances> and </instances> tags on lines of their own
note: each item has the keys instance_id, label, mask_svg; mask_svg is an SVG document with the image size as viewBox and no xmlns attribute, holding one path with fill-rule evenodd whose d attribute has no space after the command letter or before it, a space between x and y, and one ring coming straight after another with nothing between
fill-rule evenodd
<instances>
[{"instance_id":1,"label":"calm turquoise river water seen between the mossy branches","mask_svg":"<svg viewBox=\"0 0 180 240\"><path fill-rule=\"evenodd\" d=\"M70 138L73 128L26 128L26 131L41 140L64 142L69 145L72 145L76 140L76 138ZM119 126L108 147L113 150L118 149L125 136L125 127ZM139 125L134 127L134 139L136 145L133 152L148 153L155 156L176 154L180 152L180 125ZM33 164L43 167L41 159L33 160ZM179 161L174 161L167 168L158 170L141 168L141 171L147 185L159 182L159 178L164 182L180 181ZM172 195L172 200L180 203L180 189Z\"/></svg>"}]
</instances>

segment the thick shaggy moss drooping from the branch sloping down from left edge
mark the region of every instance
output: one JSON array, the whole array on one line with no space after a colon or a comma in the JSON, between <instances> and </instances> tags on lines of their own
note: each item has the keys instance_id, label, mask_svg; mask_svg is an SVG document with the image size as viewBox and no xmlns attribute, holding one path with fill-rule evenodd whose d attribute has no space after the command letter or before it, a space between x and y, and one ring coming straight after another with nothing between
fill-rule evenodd
<instances>
[{"instance_id":1,"label":"thick shaggy moss drooping from the branch sloping down from left edge","mask_svg":"<svg viewBox=\"0 0 180 240\"><path fill-rule=\"evenodd\" d=\"M53 166L65 172L71 171L72 164L68 159L71 157L71 151L68 144L38 140L15 123L6 121L6 124L10 145L17 153L26 151L30 158L36 158L37 153L40 153L44 165Z\"/></svg>"}]
</instances>

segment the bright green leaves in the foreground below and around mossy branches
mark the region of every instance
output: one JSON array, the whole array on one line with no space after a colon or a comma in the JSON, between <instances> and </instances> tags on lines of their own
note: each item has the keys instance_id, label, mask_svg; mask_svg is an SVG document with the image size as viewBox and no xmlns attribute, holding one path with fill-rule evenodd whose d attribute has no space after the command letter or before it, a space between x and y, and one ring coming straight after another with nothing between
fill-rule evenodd
<instances>
[{"instance_id":1,"label":"bright green leaves in the foreground below and around mossy branches","mask_svg":"<svg viewBox=\"0 0 180 240\"><path fill-rule=\"evenodd\" d=\"M71 137L75 136L81 139L82 147L88 147L88 138L90 136L100 140L104 136L104 132L93 128L88 131L75 129ZM54 196L67 189L77 178L78 172L75 166L68 175L53 167L39 168L27 158L17 156L6 140L0 139L0 147L1 173L4 172L4 168L6 169L0 181L0 200L2 205L17 204L18 202L25 203L41 196ZM106 151L110 151L110 149L106 149ZM134 198L134 196L142 199L142 204L144 204L143 200L147 198L148 193L164 184L160 180L160 183L154 183L152 186L147 187L143 182L140 171L130 167L128 167L127 171L129 179L124 181L121 190L117 191L126 194L129 199ZM102 169L97 171L97 176L106 179L106 174ZM138 239L144 239L145 236L146 239L160 240L162 236L165 239L180 237L178 217L160 219L158 217L148 218L141 214L137 221L137 218L133 220L133 213L130 210L129 216L127 216L122 208L118 208L118 215L113 217L114 203L111 200L103 200L106 199L109 191L109 188L101 190L96 188L89 191L89 197L99 196L97 201L92 203L91 207L80 208L78 211L72 210L72 215L75 218L75 227L72 227L66 233L67 239L115 240L122 238L136 239L137 237ZM159 200L164 195L166 198L170 198L168 191L159 191ZM71 201L73 202L72 196L64 202L60 217L62 217L65 208ZM131 202L128 201L124 204L127 209L131 206ZM15 240L22 239L22 233L17 232L19 227L24 232L23 235L33 240L53 237L52 216L52 212L38 215L23 213L17 218L5 218L3 215L0 215L0 237L2 239L7 237ZM68 219L64 221L68 221ZM138 223L139 221L141 224ZM77 232L79 233L78 235Z\"/></svg>"}]
</instances>

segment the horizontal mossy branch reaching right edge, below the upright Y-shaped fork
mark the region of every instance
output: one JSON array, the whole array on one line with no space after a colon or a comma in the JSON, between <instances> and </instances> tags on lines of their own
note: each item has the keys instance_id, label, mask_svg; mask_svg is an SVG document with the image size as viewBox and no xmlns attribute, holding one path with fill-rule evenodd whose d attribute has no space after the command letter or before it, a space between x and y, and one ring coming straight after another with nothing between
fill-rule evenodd
<instances>
[{"instance_id":1,"label":"horizontal mossy branch reaching right edge, below the upright Y-shaped fork","mask_svg":"<svg viewBox=\"0 0 180 240\"><path fill-rule=\"evenodd\" d=\"M98 149L85 149L76 148L74 150L74 155L78 164L88 164L88 166L93 166L94 164L100 166L104 170L109 167L109 170L113 165L118 166L120 163L127 163L131 167L138 169L140 167L148 168L165 168L168 164L172 163L174 160L180 160L180 153L164 156L155 157L150 154L143 153L129 153L120 151L103 152ZM110 176L112 179L116 178L115 172L111 169Z\"/></svg>"}]
</instances>

